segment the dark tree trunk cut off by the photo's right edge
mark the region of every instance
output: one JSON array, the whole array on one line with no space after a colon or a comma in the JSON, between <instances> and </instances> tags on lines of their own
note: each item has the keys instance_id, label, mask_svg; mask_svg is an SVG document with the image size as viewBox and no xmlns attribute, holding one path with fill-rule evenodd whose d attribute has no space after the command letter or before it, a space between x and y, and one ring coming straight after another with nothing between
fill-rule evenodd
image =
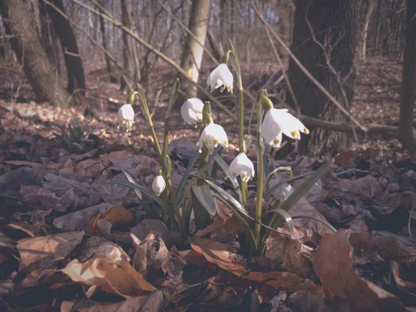
<instances>
[{"instance_id":1,"label":"dark tree trunk cut off by the photo's right edge","mask_svg":"<svg viewBox=\"0 0 416 312\"><path fill-rule=\"evenodd\" d=\"M413 135L413 109L416 89L416 1L406 1L406 38L401 78L399 140L404 147L415 152L416 138Z\"/></svg>"}]
</instances>

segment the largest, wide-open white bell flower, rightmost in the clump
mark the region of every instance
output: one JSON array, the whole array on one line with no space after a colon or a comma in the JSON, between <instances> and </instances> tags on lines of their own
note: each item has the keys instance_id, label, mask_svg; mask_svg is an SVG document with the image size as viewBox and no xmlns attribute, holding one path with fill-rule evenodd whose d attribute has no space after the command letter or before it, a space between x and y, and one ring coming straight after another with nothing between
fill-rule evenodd
<instances>
[{"instance_id":1,"label":"largest, wide-open white bell flower, rightmost in the clump","mask_svg":"<svg viewBox=\"0 0 416 312\"><path fill-rule=\"evenodd\" d=\"M272 108L264 115L261 124L261 137L271 146L278 148L281 144L281 134L291 139L300 139L300 133L309 134L309 130L298 119L288 113L288 110Z\"/></svg>"}]
</instances>

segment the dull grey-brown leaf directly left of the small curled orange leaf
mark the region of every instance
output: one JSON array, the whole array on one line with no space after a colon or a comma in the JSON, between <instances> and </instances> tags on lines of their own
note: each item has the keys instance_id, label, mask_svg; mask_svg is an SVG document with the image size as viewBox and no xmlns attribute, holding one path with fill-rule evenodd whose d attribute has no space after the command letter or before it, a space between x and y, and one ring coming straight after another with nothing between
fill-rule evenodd
<instances>
[{"instance_id":1,"label":"dull grey-brown leaf directly left of the small curled orange leaf","mask_svg":"<svg viewBox=\"0 0 416 312\"><path fill-rule=\"evenodd\" d=\"M55 218L53 220L53 226L55 226L57 229L60 229L62 232L85 229L93 216L105 212L110 207L111 205L109 203L102 202L99 205L80 209L78 211L72 212L71 214L66 214L64 216L60 216L59 218Z\"/></svg>"}]
</instances>

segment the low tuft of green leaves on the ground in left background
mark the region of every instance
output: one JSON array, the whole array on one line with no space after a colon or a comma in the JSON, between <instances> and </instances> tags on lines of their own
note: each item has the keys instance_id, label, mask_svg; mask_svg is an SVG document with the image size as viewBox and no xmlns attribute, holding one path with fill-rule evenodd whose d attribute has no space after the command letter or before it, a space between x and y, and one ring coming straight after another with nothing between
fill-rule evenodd
<instances>
[{"instance_id":1,"label":"low tuft of green leaves on the ground in left background","mask_svg":"<svg viewBox=\"0 0 416 312\"><path fill-rule=\"evenodd\" d=\"M88 121L84 125L80 125L78 119L74 119L68 126L58 125L60 134L53 132L53 138L60 148L68 150L69 153L84 153L88 146L91 146L94 141L87 139L88 134L85 133Z\"/></svg>"}]
</instances>

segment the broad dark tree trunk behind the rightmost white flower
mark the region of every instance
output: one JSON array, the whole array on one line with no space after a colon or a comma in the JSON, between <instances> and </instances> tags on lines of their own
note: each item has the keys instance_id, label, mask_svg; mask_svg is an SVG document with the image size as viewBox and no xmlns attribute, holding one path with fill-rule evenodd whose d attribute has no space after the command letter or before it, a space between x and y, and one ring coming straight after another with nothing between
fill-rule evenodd
<instances>
[{"instance_id":1,"label":"broad dark tree trunk behind the rightmost white flower","mask_svg":"<svg viewBox=\"0 0 416 312\"><path fill-rule=\"evenodd\" d=\"M293 31L292 51L313 76L328 89L328 91L349 110L353 96L354 57L356 45L361 37L360 16L363 12L362 0L297 0L295 11L295 28ZM340 77L347 80L343 84L347 101L336 79L329 69L322 48L314 42L311 30L306 22L306 14L316 40L331 46L330 62ZM326 50L327 50L326 49ZM331 103L327 96L307 78L299 67L290 60L289 79L297 97L302 114L332 121L348 123L345 114ZM288 98L293 105L293 98ZM348 148L346 133L329 131L323 128L311 129L309 136L303 136L299 143L300 153L321 156L339 153Z\"/></svg>"}]
</instances>

